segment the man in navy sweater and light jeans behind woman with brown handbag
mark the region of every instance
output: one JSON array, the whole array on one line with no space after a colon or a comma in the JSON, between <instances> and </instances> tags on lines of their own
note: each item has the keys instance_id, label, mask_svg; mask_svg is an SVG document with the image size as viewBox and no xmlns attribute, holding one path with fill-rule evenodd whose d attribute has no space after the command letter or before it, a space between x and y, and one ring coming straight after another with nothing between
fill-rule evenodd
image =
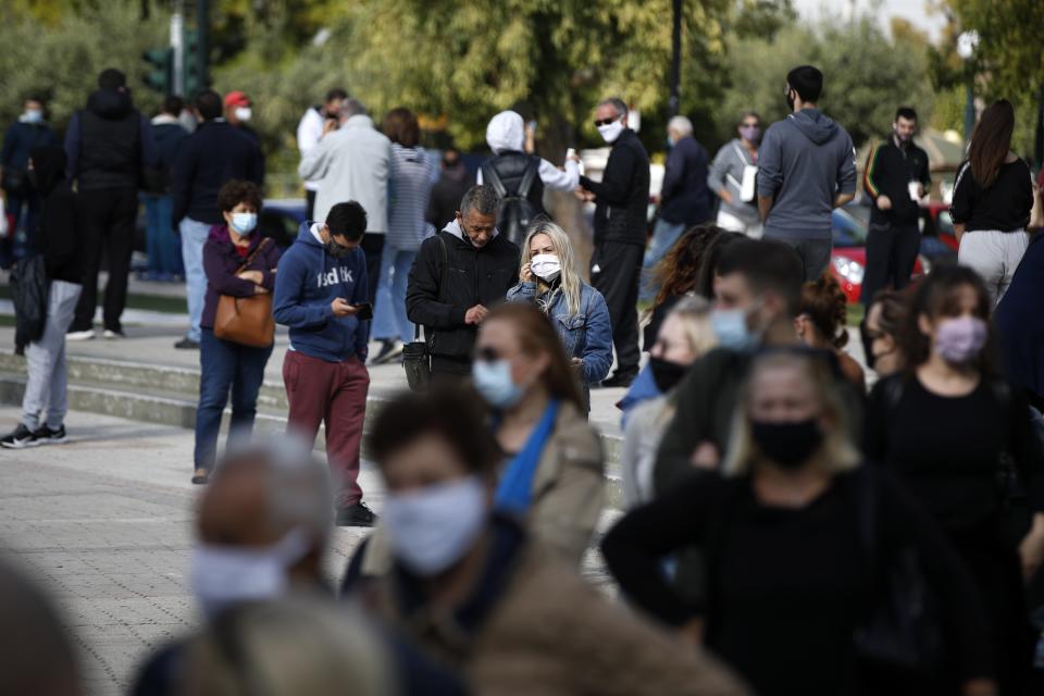
<instances>
[{"instance_id":1,"label":"man in navy sweater and light jeans behind woman with brown handbag","mask_svg":"<svg viewBox=\"0 0 1044 696\"><path fill-rule=\"evenodd\" d=\"M250 136L222 117L221 97L210 89L196 97L196 111L202 121L184 142L174 161L174 221L182 235L185 285L188 289L188 334L176 348L198 349L207 295L203 273L203 245L211 225L223 223L217 210L217 191L232 179L264 181L261 148Z\"/></svg>"}]
</instances>

